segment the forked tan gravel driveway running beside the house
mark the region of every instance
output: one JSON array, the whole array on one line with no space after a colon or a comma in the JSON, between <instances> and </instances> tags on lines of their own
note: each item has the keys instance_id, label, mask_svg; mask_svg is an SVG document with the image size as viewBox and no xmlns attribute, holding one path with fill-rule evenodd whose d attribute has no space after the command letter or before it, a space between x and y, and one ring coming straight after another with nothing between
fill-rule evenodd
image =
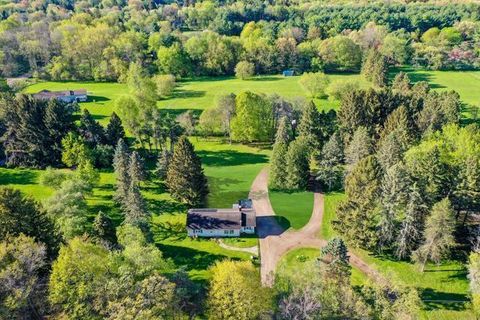
<instances>
[{"instance_id":1,"label":"forked tan gravel driveway running beside the house","mask_svg":"<svg viewBox=\"0 0 480 320\"><path fill-rule=\"evenodd\" d=\"M275 212L268 197L268 169L264 168L253 181L250 198L257 212L257 232L260 238L260 273L262 284L272 286L277 263L290 250L304 247L321 248L327 241L318 238L322 226L324 201L323 194L314 194L312 216L300 230L283 230L277 223ZM380 278L379 273L362 259L350 253L350 263L372 278Z\"/></svg>"}]
</instances>

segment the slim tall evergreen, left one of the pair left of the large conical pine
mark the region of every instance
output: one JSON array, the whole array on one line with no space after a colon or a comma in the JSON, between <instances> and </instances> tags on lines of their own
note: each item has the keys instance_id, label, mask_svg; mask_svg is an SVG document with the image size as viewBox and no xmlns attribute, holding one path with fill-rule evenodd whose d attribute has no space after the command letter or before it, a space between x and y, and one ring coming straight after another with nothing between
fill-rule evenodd
<instances>
[{"instance_id":1,"label":"slim tall evergreen, left one of the pair left of the large conical pine","mask_svg":"<svg viewBox=\"0 0 480 320\"><path fill-rule=\"evenodd\" d=\"M129 154L128 147L123 139L118 140L115 155L113 156L113 168L116 176L115 200L124 205L130 188Z\"/></svg>"}]
</instances>

